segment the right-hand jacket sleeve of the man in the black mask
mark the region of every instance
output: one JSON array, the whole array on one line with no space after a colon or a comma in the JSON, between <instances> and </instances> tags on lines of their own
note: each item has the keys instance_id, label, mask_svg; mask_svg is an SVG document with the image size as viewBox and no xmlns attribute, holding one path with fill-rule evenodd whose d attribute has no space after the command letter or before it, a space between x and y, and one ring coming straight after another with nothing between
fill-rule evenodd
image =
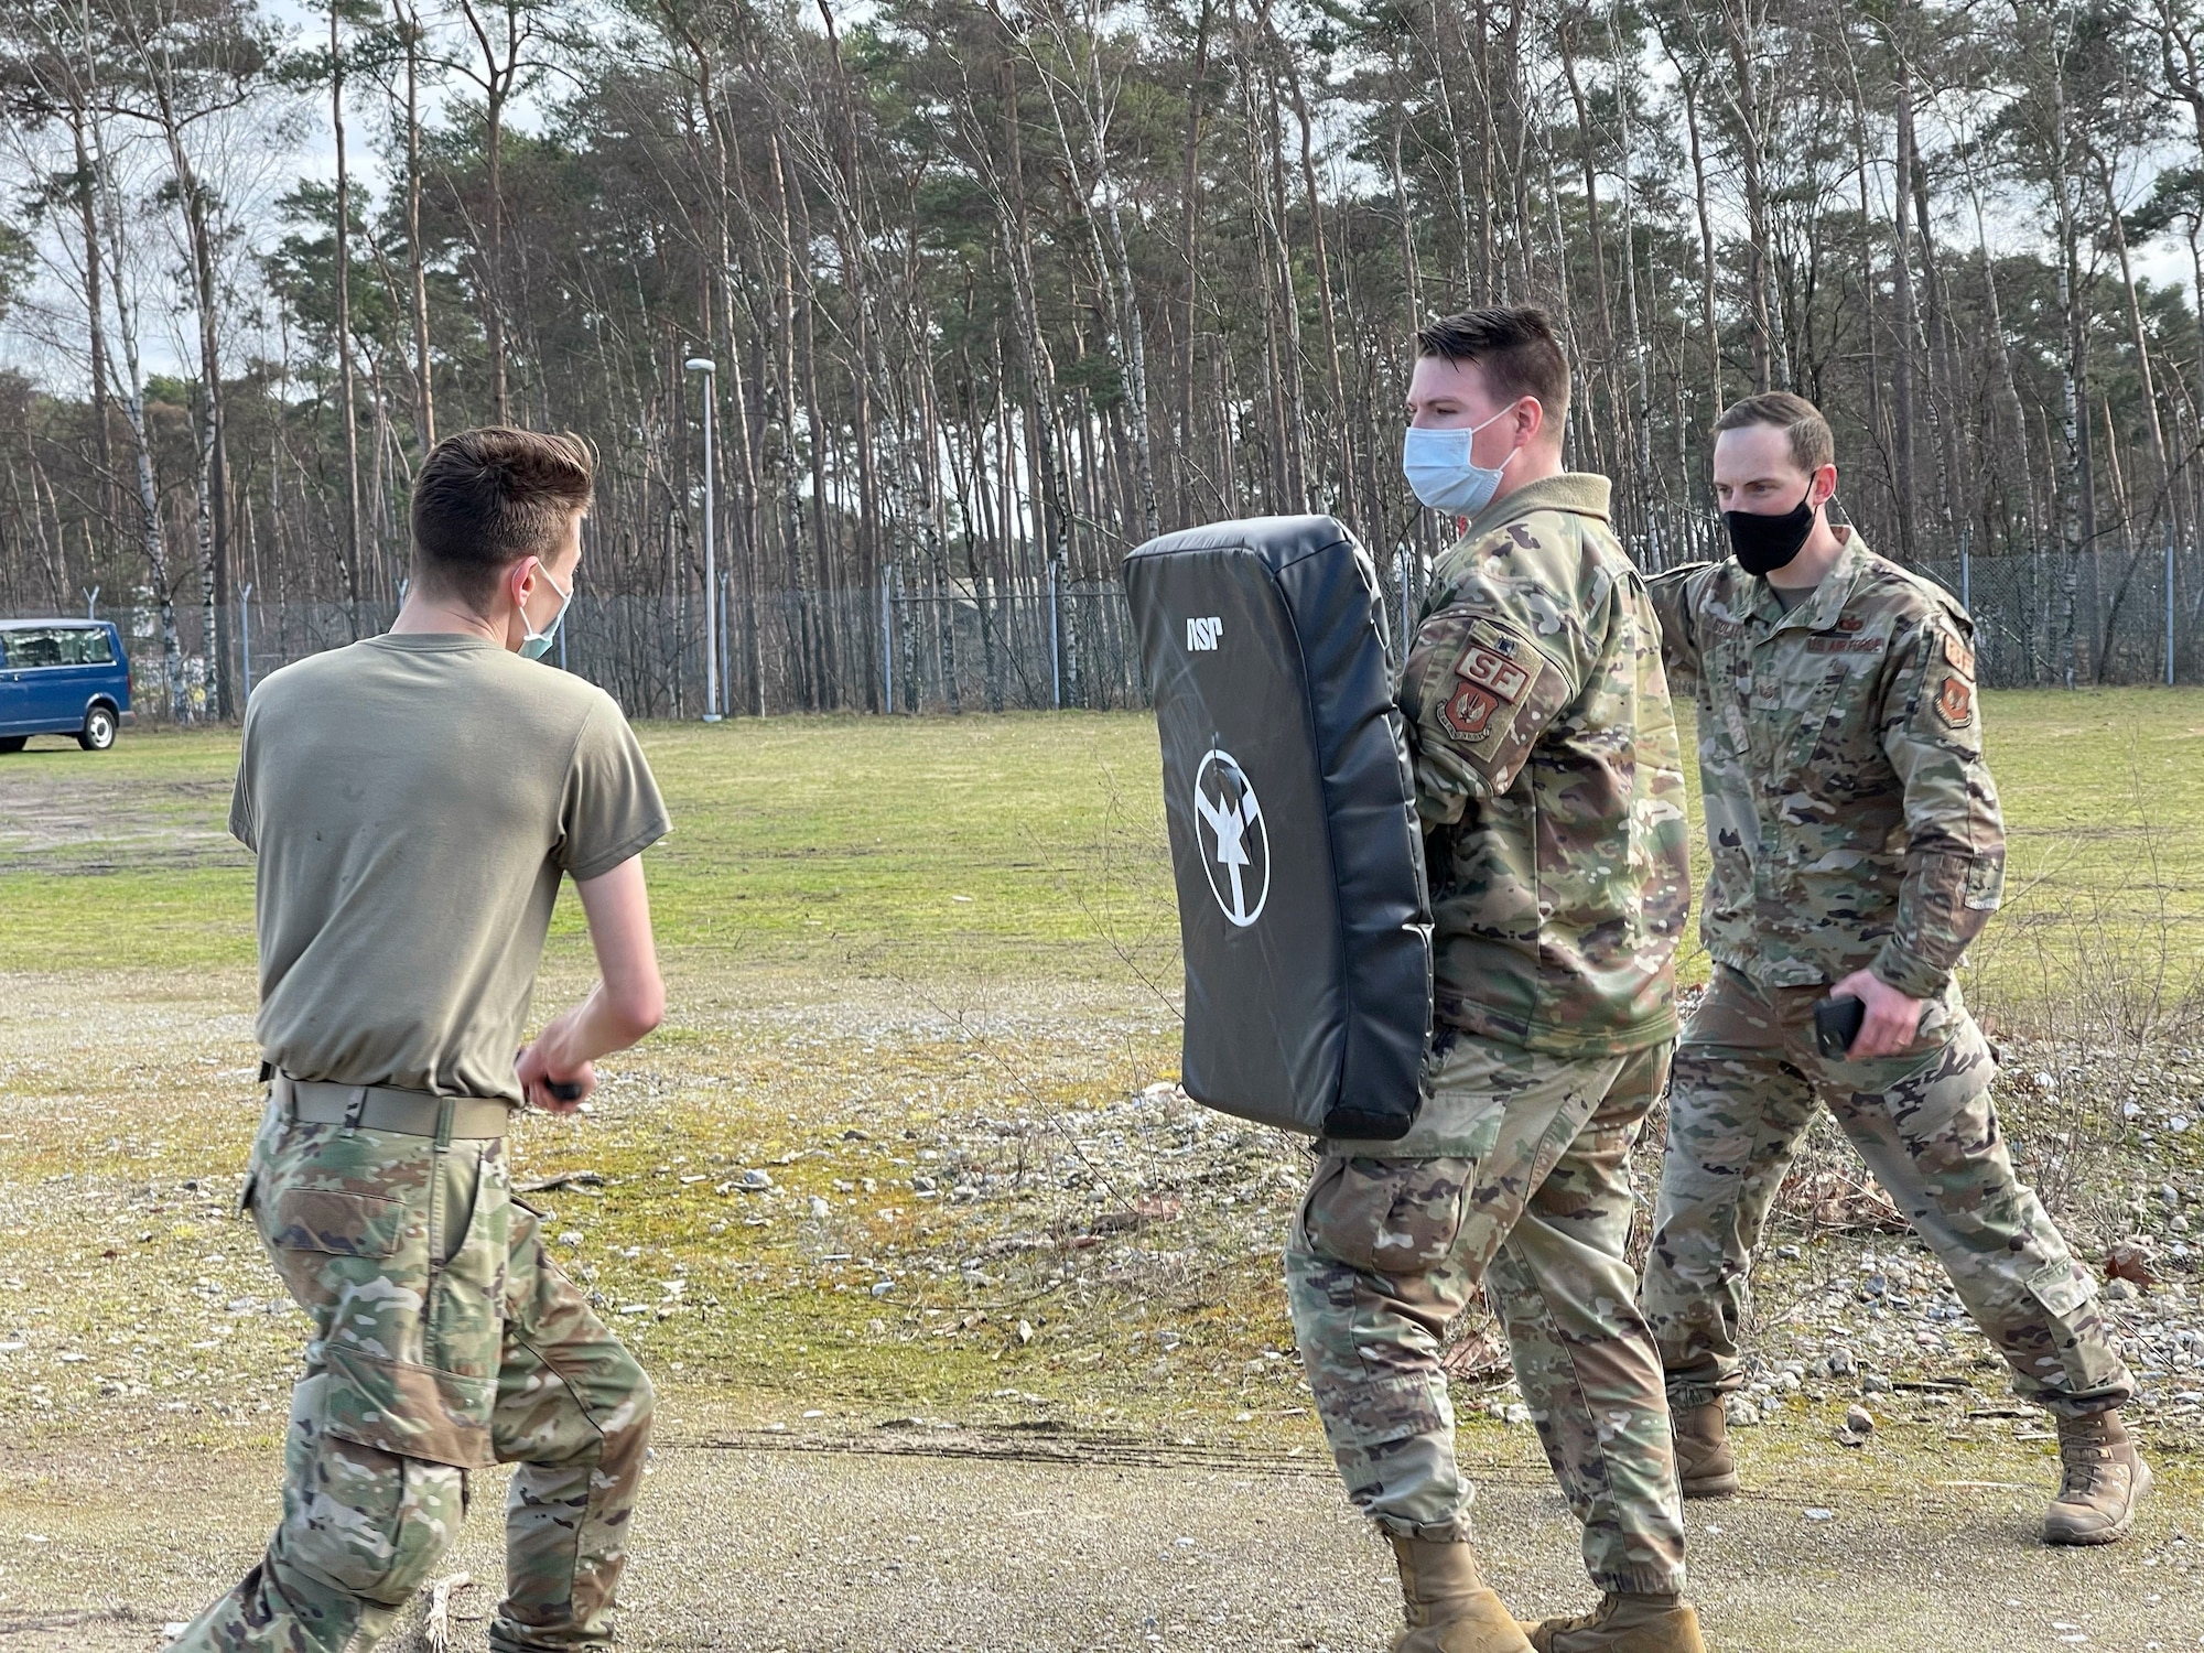
<instances>
[{"instance_id":1,"label":"right-hand jacket sleeve of the man in the black mask","mask_svg":"<svg viewBox=\"0 0 2204 1653\"><path fill-rule=\"evenodd\" d=\"M1898 923L1873 972L1915 998L1944 992L2006 893L2006 824L1981 760L1975 650L1966 622L1937 613L1900 633L1887 674L1882 752L1906 791L1906 873Z\"/></svg>"}]
</instances>

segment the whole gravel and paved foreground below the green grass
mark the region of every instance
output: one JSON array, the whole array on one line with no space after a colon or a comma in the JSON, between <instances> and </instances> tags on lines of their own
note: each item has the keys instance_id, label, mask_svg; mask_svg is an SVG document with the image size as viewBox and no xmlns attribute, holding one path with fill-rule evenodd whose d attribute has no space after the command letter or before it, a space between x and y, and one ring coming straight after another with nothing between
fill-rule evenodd
<instances>
[{"instance_id":1,"label":"whole gravel and paved foreground below the green grass","mask_svg":"<svg viewBox=\"0 0 2204 1653\"><path fill-rule=\"evenodd\" d=\"M300 1320L231 1217L242 987L0 983L0 1653L156 1646L271 1516ZM1109 994L723 994L588 1122L516 1142L560 1256L670 1397L626 1644L1382 1642L1384 1556L1278 1292L1298 1142L1155 1080L1168 1018ZM2204 1065L2006 1058L2025 1173L2092 1265L2142 1276L2107 1303L2160 1494L2114 1552L2032 1543L2041 1415L1823 1128L1763 1258L1748 1497L1693 1510L1715 1646L2204 1646L2204 1128L2182 1111ZM1494 1576L1525 1607L1582 1600L1501 1351L1477 1316L1452 1349ZM494 1578L494 1536L476 1521L456 1565Z\"/></svg>"}]
</instances>

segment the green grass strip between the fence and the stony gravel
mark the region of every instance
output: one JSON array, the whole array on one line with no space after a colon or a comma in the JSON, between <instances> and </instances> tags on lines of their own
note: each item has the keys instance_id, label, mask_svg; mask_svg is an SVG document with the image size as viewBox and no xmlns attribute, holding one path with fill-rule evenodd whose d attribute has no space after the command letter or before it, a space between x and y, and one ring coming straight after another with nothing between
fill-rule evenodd
<instances>
[{"instance_id":1,"label":"green grass strip between the fence and the stony gravel","mask_svg":"<svg viewBox=\"0 0 2204 1653\"><path fill-rule=\"evenodd\" d=\"M2014 932L2114 926L2107 941L2149 930L2156 946L2204 919L2204 692L1990 692L1984 712L2010 829L2008 908L1977 959L2010 976L1992 990L2043 987ZM677 976L1173 983L1146 714L644 738L677 822L648 857ZM251 864L223 831L234 765L223 732L134 734L104 756L55 741L0 763L0 972L249 965ZM553 968L575 965L571 901L555 937Z\"/></svg>"}]
</instances>

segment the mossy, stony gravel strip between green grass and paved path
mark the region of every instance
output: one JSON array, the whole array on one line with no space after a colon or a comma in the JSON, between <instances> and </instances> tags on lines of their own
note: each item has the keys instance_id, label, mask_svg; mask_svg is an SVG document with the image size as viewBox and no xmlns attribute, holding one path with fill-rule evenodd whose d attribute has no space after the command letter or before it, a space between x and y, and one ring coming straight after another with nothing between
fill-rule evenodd
<instances>
[{"instance_id":1,"label":"mossy, stony gravel strip between green grass and paved path","mask_svg":"<svg viewBox=\"0 0 2204 1653\"><path fill-rule=\"evenodd\" d=\"M82 1014L71 1027L88 1036ZM229 1067L249 1054L242 1018L194 1001L110 1007L90 1038L134 1056L95 1091L55 1089L84 1071L40 1051L46 1031L0 1016L0 1144L15 1144L0 1177L0 1419L273 1428L300 1320L231 1221L251 1124L249 1069ZM525 1186L549 1184L529 1197L553 1250L646 1360L752 1391L754 1422L813 1406L877 1422L901 1386L972 1422L1261 1437L1303 1417L1276 1281L1307 1148L1168 1082L1135 1089L1157 1031L1062 1001L752 1007L719 1042L617 1073L584 1126L529 1124L516 1164ZM2162 1448L2195 1450L2204 1285L2186 1232L2204 1126L2180 1109L2204 1062L2032 1067L2052 1056L2008 1051L2017 1157L2076 1252L2127 1276L2105 1303L2140 1380L2136 1415ZM758 1109L785 1104L791 1073L809 1084L798 1122ZM1655 1153L1657 1122L1642 1201ZM1521 1424L1483 1316L1457 1327L1452 1364L1468 1411ZM1856 1400L1942 1408L1953 1435L2041 1435L1827 1122L1761 1258L1752 1366L1739 1424Z\"/></svg>"}]
</instances>

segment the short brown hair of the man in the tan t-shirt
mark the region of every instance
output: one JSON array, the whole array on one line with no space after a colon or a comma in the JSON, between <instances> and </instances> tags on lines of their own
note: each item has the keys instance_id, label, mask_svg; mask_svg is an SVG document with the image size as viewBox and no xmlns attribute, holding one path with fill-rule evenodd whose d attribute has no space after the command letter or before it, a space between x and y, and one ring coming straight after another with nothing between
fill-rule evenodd
<instances>
[{"instance_id":1,"label":"short brown hair of the man in the tan t-shirt","mask_svg":"<svg viewBox=\"0 0 2204 1653\"><path fill-rule=\"evenodd\" d=\"M593 465L580 436L485 425L445 436L414 478L414 577L483 611L520 558L558 549L588 509Z\"/></svg>"}]
</instances>

